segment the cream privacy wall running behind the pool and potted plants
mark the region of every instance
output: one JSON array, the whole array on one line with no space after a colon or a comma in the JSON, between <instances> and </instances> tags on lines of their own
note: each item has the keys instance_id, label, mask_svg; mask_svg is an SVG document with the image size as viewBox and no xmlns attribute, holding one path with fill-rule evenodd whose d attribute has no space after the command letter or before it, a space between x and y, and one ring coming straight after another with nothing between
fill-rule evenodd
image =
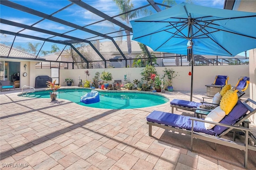
<instances>
[{"instance_id":1,"label":"cream privacy wall running behind the pool and potted plants","mask_svg":"<svg viewBox=\"0 0 256 170\"><path fill-rule=\"evenodd\" d=\"M174 90L181 91L190 91L191 87L191 76L188 75L188 72L191 71L191 66L182 66L182 67L167 67L173 68L178 76L173 80ZM86 79L85 70L89 70L90 76L89 79L92 81L96 71L102 73L102 71L109 71L113 75L113 80L110 83L113 83L114 80L122 80L124 82L124 75L130 75L130 81L134 79L141 79L141 71L143 67L139 68L110 68L110 69L60 69L60 85L66 85L64 82L65 78L71 77L74 79L73 86L78 84L78 76L80 75L81 79ZM156 71L163 76L164 67L156 67ZM228 84L236 85L238 82L238 77L247 76L249 77L249 65L216 65L216 66L194 66L194 91L206 92L206 86L214 82L216 75L228 75L229 80ZM249 88L246 90L246 93L249 93Z\"/></svg>"}]
</instances>

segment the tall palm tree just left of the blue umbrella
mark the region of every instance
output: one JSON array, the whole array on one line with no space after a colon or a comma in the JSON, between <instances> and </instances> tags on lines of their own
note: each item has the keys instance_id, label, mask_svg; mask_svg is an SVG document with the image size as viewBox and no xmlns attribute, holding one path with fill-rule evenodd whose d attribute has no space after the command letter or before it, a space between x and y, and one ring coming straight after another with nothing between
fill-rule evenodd
<instances>
[{"instance_id":1,"label":"tall palm tree just left of the blue umbrella","mask_svg":"<svg viewBox=\"0 0 256 170\"><path fill-rule=\"evenodd\" d=\"M132 4L131 0L113 0L113 2L116 3L120 10L120 14L124 12L128 12L132 9L134 9L134 6ZM129 25L130 20L138 18L139 16L146 16L152 14L152 11L149 11L147 9L140 9L133 12L128 12L126 14L123 14L120 16L120 18L126 22L127 25ZM126 36L127 36L127 47L128 47L128 58L130 59L132 54L132 44L131 44L131 37L130 32L128 30L125 30ZM132 66L132 61L129 60L129 67Z\"/></svg>"}]
</instances>

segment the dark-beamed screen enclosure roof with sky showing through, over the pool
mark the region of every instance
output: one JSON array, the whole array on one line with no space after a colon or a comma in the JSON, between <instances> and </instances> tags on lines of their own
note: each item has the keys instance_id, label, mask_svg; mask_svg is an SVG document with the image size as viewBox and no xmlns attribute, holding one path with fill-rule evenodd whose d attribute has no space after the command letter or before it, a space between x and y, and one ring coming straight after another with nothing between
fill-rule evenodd
<instances>
[{"instance_id":1,"label":"dark-beamed screen enclosure roof with sky showing through, over the pool","mask_svg":"<svg viewBox=\"0 0 256 170\"><path fill-rule=\"evenodd\" d=\"M176 3L184 1L176 0ZM71 49L72 54L80 55L86 63L106 62L108 59L103 57L101 51L117 51L127 62L128 56L122 50L125 50L128 39L132 38L130 20L160 12L173 4L163 0L126 0L129 2L125 8L127 10L120 10L116 2L120 4L121 1L1 0L1 43L27 49L27 52L32 52L31 47L36 47L33 52L38 57ZM209 0L201 2L193 3L215 8L224 6L224 1L220 4ZM111 43L113 49L98 45L106 43ZM80 48L82 45L94 51L90 58L84 55Z\"/></svg>"}]
</instances>

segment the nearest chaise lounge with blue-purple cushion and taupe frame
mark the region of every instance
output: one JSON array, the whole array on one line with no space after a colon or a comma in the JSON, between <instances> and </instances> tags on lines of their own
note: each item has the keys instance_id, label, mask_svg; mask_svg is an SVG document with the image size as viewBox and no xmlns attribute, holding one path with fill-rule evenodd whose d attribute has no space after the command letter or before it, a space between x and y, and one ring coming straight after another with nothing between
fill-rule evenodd
<instances>
[{"instance_id":1,"label":"nearest chaise lounge with blue-purple cushion and taupe frame","mask_svg":"<svg viewBox=\"0 0 256 170\"><path fill-rule=\"evenodd\" d=\"M198 119L183 115L176 115L173 113L166 113L162 111L153 111L147 116L147 124L149 125L148 135L152 136L152 126L164 128L167 130L173 130L184 134L191 135L191 150L193 150L193 138L198 138L216 144L222 144L233 148L238 148L245 151L244 155L244 167L247 167L248 149L256 151L255 137L250 133L249 128L241 127L240 124L248 119L251 115L256 113L256 109L253 109L247 103L256 104L256 101L247 99L243 103L238 100L232 111L226 115L219 123L206 121L204 119ZM248 112L249 111L249 112ZM206 129L205 123L214 124L211 129ZM228 132L242 131L244 132L244 143L238 143L221 138ZM233 133L234 136L236 132ZM248 141L252 142L248 145Z\"/></svg>"}]
</instances>

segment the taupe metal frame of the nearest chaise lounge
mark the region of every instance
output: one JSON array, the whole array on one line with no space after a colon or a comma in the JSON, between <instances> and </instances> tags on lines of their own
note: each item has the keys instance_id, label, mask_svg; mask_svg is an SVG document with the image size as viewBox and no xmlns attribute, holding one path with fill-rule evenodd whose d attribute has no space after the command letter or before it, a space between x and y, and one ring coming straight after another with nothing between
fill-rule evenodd
<instances>
[{"instance_id":1,"label":"taupe metal frame of the nearest chaise lounge","mask_svg":"<svg viewBox=\"0 0 256 170\"><path fill-rule=\"evenodd\" d=\"M242 127L242 125L241 125L241 123L244 120L248 119L251 115L256 113L256 109L253 109L252 107L250 107L250 105L247 104L248 102L253 103L254 105L256 105L256 101L253 101L252 99L246 99L246 101L244 101L243 104L248 109L248 111L250 111L250 112L248 114L246 114L244 117L240 118L237 121L237 123L235 123L234 125L226 125L226 124L223 124L223 123L215 123L215 122L205 121L205 120L202 120L202 119L197 119L197 118L191 117L190 120L192 120L192 129L191 130L186 130L186 129L182 129L182 128L178 128L178 127L172 127L172 126L169 126L169 125L163 125L163 124L147 121L147 124L149 126L148 127L149 128L148 136L152 136L152 126L156 126L156 127L160 127L160 128L166 129L166 130L181 132L183 134L190 134L191 135L191 143L190 143L191 150L193 150L193 139L194 138L214 142L215 143L214 150L216 150L217 144L230 146L232 148L238 148L240 150L244 150L244 152L245 152L244 153L244 167L247 168L248 149L256 151L255 137L250 132L249 128ZM201 133L201 132L194 132L194 121L200 121L200 122L204 122L204 123L211 123L211 124L214 124L214 125L220 125L220 126L227 127L228 129L226 129L224 132L222 132L222 134L220 134L218 136L212 136L212 135L204 134L204 133ZM225 140L220 140L220 138L222 136L224 136L225 134L227 134L231 130L234 131L233 132L233 140L234 141L230 142L229 140L226 140L226 139ZM244 133L244 136L245 136L244 137L244 143L235 142L236 131ZM255 146L252 146L252 145L248 144L249 139L254 142Z\"/></svg>"}]
</instances>

